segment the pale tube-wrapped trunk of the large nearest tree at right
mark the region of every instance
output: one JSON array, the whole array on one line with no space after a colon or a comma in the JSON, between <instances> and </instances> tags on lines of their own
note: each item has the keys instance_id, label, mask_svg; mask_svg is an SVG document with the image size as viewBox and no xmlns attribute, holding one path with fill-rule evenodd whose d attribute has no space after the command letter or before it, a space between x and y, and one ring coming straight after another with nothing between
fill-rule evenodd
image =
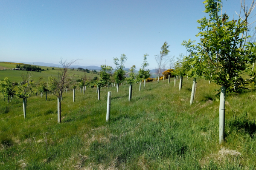
<instances>
[{"instance_id":1,"label":"pale tube-wrapped trunk of the large nearest tree at right","mask_svg":"<svg viewBox=\"0 0 256 170\"><path fill-rule=\"evenodd\" d=\"M226 102L226 87L221 87L220 108L219 108L219 143L221 144L225 139L225 102Z\"/></svg>"}]
</instances>

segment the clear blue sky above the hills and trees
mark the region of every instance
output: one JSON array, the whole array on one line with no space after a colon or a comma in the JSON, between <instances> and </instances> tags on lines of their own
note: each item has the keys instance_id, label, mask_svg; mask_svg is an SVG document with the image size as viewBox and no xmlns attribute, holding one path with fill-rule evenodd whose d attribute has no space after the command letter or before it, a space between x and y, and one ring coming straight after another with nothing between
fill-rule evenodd
<instances>
[{"instance_id":1,"label":"clear blue sky above the hills and trees","mask_svg":"<svg viewBox=\"0 0 256 170\"><path fill-rule=\"evenodd\" d=\"M183 40L198 40L197 20L206 16L203 0L1 0L0 61L113 65L126 54L125 67L149 69L165 41L170 55L186 54ZM251 3L251 0L247 0ZM224 0L233 17L240 0ZM255 13L255 11L253 12ZM235 14L235 18L237 18ZM254 19L252 19L254 20Z\"/></svg>"}]
</instances>

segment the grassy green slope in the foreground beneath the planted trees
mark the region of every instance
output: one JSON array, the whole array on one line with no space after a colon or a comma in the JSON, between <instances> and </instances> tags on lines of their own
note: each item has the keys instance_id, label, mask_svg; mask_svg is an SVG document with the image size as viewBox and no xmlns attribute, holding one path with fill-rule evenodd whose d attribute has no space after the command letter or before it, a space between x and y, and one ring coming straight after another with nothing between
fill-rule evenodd
<instances>
[{"instance_id":1,"label":"grassy green slope in the foreground beneath the planted trees","mask_svg":"<svg viewBox=\"0 0 256 170\"><path fill-rule=\"evenodd\" d=\"M181 91L168 81L96 89L63 95L62 123L56 97L30 97L27 119L22 101L0 99L0 169L255 169L254 91L227 96L226 142L218 144L218 105L208 81L198 80L190 106L192 79ZM105 123L107 91L112 91L111 121ZM236 150L236 151L234 151ZM240 155L239 155L239 153ZM232 155L233 154L233 155ZM236 156L234 156L236 155Z\"/></svg>"}]
</instances>

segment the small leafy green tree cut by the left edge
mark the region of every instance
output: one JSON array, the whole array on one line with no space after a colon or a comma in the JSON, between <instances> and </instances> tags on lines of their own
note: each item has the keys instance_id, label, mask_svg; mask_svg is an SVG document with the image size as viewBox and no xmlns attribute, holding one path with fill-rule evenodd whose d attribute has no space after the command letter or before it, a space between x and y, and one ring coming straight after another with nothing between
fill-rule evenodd
<instances>
[{"instance_id":1,"label":"small leafy green tree cut by the left edge","mask_svg":"<svg viewBox=\"0 0 256 170\"><path fill-rule=\"evenodd\" d=\"M15 95L14 87L8 77L4 78L3 81L0 81L0 91L3 94L3 97L7 98L8 103L10 101L10 97Z\"/></svg>"}]
</instances>

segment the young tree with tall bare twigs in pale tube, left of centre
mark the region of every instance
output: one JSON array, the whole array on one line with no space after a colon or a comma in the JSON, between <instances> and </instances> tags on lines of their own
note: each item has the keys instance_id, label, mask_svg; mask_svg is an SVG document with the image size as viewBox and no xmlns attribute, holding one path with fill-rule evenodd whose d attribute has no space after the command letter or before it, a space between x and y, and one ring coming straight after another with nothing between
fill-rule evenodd
<instances>
[{"instance_id":1,"label":"young tree with tall bare twigs in pale tube, left of centre","mask_svg":"<svg viewBox=\"0 0 256 170\"><path fill-rule=\"evenodd\" d=\"M68 75L68 68L72 65L76 60L71 60L67 62L67 60L63 61L62 59L59 61L61 64L61 68L58 69L58 78L51 77L50 81L48 81L49 89L52 93L57 97L57 105L58 105L58 123L61 123L61 96L64 92L64 87L66 84L69 84L70 78Z\"/></svg>"}]
</instances>

